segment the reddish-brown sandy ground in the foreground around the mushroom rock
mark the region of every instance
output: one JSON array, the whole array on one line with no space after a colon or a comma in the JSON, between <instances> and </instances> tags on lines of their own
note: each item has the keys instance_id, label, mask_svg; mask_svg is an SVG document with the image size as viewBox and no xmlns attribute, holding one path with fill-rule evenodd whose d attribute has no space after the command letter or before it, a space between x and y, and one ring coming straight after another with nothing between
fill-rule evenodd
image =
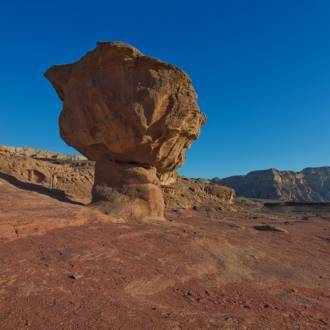
<instances>
[{"instance_id":1,"label":"reddish-brown sandy ground in the foreground around the mushroom rock","mask_svg":"<svg viewBox=\"0 0 330 330\"><path fill-rule=\"evenodd\" d=\"M327 219L114 223L53 197L0 180L0 329L330 327Z\"/></svg>"}]
</instances>

